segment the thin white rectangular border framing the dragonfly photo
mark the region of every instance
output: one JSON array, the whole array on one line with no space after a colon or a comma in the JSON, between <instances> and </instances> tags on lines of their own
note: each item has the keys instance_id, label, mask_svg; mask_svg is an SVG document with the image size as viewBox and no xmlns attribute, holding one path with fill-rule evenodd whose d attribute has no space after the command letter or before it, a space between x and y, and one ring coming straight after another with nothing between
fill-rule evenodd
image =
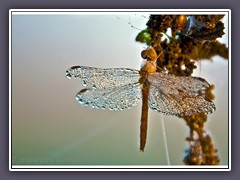
<instances>
[{"instance_id":1,"label":"thin white rectangular border framing the dragonfly photo","mask_svg":"<svg viewBox=\"0 0 240 180\"><path fill-rule=\"evenodd\" d=\"M12 49L11 49L11 18L12 15L107 15L129 14L134 12L151 14L226 14L228 15L228 122L229 122L229 157L228 165L220 166L22 166L12 165ZM10 171L230 171L231 170L231 10L230 9L10 9L9 10L9 170Z\"/></svg>"}]
</instances>

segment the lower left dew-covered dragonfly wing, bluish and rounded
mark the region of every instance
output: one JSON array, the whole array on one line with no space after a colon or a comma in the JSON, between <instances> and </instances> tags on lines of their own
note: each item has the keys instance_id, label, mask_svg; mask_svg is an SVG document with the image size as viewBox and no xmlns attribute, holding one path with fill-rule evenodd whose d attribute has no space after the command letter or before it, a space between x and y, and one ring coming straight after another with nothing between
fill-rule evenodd
<instances>
[{"instance_id":1,"label":"lower left dew-covered dragonfly wing, bluish and rounded","mask_svg":"<svg viewBox=\"0 0 240 180\"><path fill-rule=\"evenodd\" d=\"M84 106L114 111L137 105L140 97L138 82L107 89L83 89L76 95L77 101Z\"/></svg>"}]
</instances>

